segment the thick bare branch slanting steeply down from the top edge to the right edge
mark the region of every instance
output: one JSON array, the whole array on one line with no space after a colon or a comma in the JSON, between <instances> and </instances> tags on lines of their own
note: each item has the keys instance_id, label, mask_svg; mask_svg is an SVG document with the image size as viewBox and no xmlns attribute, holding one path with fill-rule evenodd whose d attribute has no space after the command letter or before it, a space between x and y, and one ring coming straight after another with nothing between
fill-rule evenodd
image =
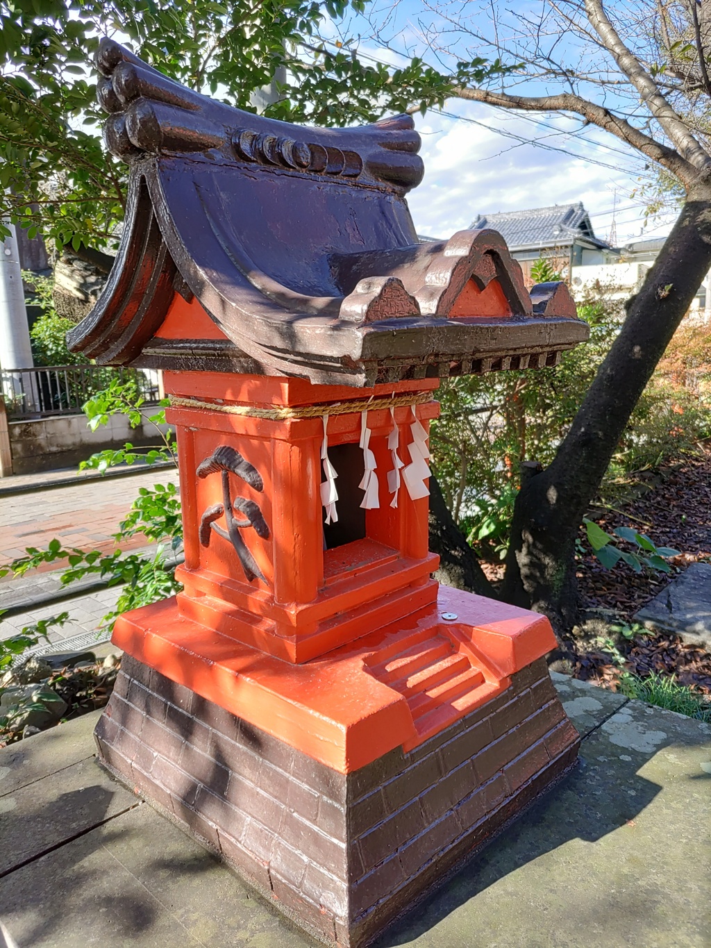
<instances>
[{"instance_id":1,"label":"thick bare branch slanting steeply down from the top edge to the right edge","mask_svg":"<svg viewBox=\"0 0 711 948\"><path fill-rule=\"evenodd\" d=\"M659 86L648 74L645 67L620 39L612 26L602 5L602 0L585 0L588 20L610 51L619 69L629 78L629 82L640 94L649 112L659 122L665 135L674 143L684 159L695 167L711 167L711 157L706 154L688 127L659 91Z\"/></svg>"}]
</instances>

